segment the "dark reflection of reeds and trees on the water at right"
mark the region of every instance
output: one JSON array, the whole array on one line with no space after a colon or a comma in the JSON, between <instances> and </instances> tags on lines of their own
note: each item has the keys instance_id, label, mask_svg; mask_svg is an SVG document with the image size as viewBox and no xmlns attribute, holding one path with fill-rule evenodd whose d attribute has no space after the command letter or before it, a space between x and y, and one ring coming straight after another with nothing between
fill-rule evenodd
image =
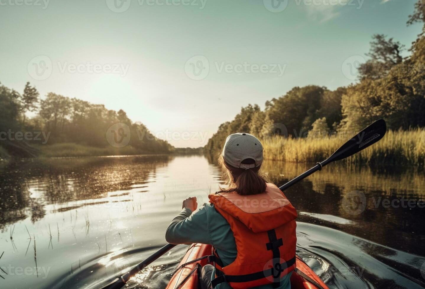
<instances>
[{"instance_id":1,"label":"dark reflection of reeds and trees on the water at right","mask_svg":"<svg viewBox=\"0 0 425 289\"><path fill-rule=\"evenodd\" d=\"M281 185L312 167L310 164L267 162L264 171L269 179ZM286 190L297 208L298 221L326 225L340 231L425 256L425 177L423 172L405 168L403 172L345 164L330 164L320 172ZM362 210L347 209L348 194L364 195ZM362 196L363 196L362 195ZM385 206L383 200L397 200ZM412 206L403 208L402 200ZM355 201L355 199L354 199ZM400 201L400 203L398 202ZM419 203L418 203L419 201ZM407 205L407 202L405 202ZM354 204L353 204L354 205Z\"/></svg>"}]
</instances>

